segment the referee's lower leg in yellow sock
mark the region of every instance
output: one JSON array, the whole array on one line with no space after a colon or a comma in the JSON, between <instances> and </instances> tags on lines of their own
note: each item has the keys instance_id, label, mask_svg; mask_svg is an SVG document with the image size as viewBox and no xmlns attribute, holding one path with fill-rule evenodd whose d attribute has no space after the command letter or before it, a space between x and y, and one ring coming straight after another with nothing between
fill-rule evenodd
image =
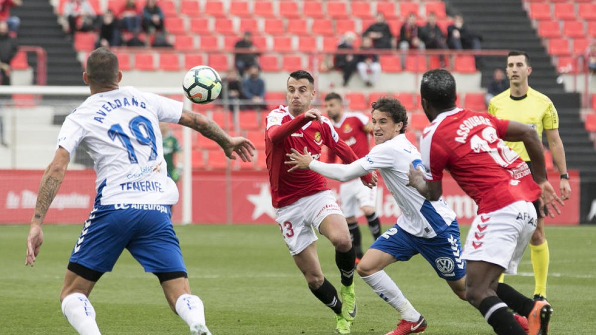
<instances>
[{"instance_id":1,"label":"referee's lower leg in yellow sock","mask_svg":"<svg viewBox=\"0 0 596 335\"><path fill-rule=\"evenodd\" d=\"M544 218L538 218L536 230L530 238L530 258L534 270L534 299L544 300L547 296L548 263L550 254L544 233Z\"/></svg>"}]
</instances>

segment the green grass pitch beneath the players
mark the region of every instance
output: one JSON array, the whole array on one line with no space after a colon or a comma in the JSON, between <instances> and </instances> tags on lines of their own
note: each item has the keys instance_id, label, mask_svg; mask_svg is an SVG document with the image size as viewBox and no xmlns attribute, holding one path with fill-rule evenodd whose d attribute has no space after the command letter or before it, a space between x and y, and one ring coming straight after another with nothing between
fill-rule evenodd
<instances>
[{"instance_id":1,"label":"green grass pitch beneath the players","mask_svg":"<svg viewBox=\"0 0 596 335\"><path fill-rule=\"evenodd\" d=\"M387 226L385 227L387 228ZM35 267L24 265L27 225L0 227L0 334L76 334L60 312L58 293L79 225L46 225ZM462 227L465 237L467 227ZM176 227L193 293L203 299L207 325L225 334L333 334L333 312L311 294L276 225ZM362 226L366 245L371 243ZM596 334L596 227L548 227L550 334ZM339 287L333 248L323 237L319 258ZM425 334L492 334L476 309L457 299L420 256L387 273L428 320ZM533 293L529 250L520 275L505 281ZM353 334L384 334L398 314L356 275L358 317ZM188 334L153 274L128 252L95 286L90 300L103 334Z\"/></svg>"}]
</instances>

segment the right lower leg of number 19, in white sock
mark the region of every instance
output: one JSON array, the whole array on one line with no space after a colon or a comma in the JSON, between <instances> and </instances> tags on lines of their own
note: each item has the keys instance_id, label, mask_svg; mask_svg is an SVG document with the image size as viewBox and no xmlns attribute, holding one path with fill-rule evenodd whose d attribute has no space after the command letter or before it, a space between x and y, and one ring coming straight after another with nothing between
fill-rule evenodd
<instances>
[{"instance_id":1,"label":"right lower leg of number 19, in white sock","mask_svg":"<svg viewBox=\"0 0 596 335\"><path fill-rule=\"evenodd\" d=\"M211 334L205 325L203 301L190 293L188 278L180 277L163 281L162 289L172 311L188 324L193 334Z\"/></svg>"}]
</instances>

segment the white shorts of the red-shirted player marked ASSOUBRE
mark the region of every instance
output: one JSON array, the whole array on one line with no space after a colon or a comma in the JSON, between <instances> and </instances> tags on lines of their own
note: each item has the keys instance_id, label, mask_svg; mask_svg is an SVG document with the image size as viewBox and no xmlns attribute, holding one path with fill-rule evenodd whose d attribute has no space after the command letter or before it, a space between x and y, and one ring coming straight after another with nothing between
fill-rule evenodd
<instances>
[{"instance_id":1,"label":"white shorts of the red-shirted player marked ASSOUBRE","mask_svg":"<svg viewBox=\"0 0 596 335\"><path fill-rule=\"evenodd\" d=\"M465 239L463 259L493 263L505 268L506 274L517 274L536 220L534 204L528 201L476 216Z\"/></svg>"}]
</instances>

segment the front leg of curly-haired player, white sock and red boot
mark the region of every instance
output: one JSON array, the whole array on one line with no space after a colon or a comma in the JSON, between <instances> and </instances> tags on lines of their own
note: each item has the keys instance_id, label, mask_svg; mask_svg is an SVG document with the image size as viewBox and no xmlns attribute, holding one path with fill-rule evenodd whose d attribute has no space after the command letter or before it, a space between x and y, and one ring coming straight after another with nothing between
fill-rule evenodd
<instances>
[{"instance_id":1,"label":"front leg of curly-haired player, white sock and red boot","mask_svg":"<svg viewBox=\"0 0 596 335\"><path fill-rule=\"evenodd\" d=\"M400 323L414 325L418 332L426 328L426 320L412 304L403 296L395 281L386 274L384 268L397 260L386 252L378 249L368 249L358 263L356 271L374 291L393 306L401 315ZM399 325L398 325L399 328Z\"/></svg>"}]
</instances>

